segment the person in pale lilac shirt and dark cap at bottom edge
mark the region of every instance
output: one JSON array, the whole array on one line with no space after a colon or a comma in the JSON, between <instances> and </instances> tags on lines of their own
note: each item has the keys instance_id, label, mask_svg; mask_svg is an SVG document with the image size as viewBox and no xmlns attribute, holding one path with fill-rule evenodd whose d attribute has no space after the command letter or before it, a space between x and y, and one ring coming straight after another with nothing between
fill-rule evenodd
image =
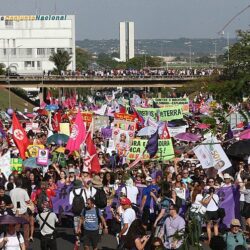
<instances>
[{"instance_id":1,"label":"person in pale lilac shirt and dark cap at bottom edge","mask_svg":"<svg viewBox=\"0 0 250 250\"><path fill-rule=\"evenodd\" d=\"M178 215L178 207L171 204L169 207L169 217L164 222L164 247L166 250L180 249L183 244L183 239L175 239L174 234L179 236L185 233L185 220Z\"/></svg>"}]
</instances>

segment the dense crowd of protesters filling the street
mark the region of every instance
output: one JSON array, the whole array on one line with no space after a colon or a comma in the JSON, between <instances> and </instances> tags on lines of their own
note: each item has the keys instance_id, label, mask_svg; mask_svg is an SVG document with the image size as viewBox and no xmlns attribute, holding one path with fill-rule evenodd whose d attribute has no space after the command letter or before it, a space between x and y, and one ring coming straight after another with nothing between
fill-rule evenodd
<instances>
[{"instance_id":1,"label":"dense crowd of protesters filling the street","mask_svg":"<svg viewBox=\"0 0 250 250\"><path fill-rule=\"evenodd\" d=\"M138 73L120 71L111 75ZM202 134L197 112L187 115L184 122L187 132ZM22 167L7 177L3 171L0 173L3 249L29 249L36 227L40 229L41 249L57 249L60 235L56 228L65 223L65 216L71 221L75 249L80 249L81 244L86 250L98 249L101 234L115 236L118 249L186 249L190 244L200 249L202 244L211 249L247 249L250 238L247 158L234 160L233 167L224 172L214 167L203 169L192 149L204 136L195 143L172 138L175 158L141 160L131 167L118 150L107 151L109 139L100 131L93 131L92 141L101 169L90 171L86 158L65 149L66 142L48 142L52 132L49 119L45 113L37 116L40 131L28 131L29 144L48 148L51 164L43 168ZM112 122L110 119L110 125ZM10 149L11 157L16 158L19 152L9 130L11 120L6 124L1 128L0 153L4 156ZM215 132L220 142L226 140L222 125L218 124ZM231 190L232 204L240 209L237 212L235 209L227 224L223 219L229 211L221 207L225 198L221 195L223 188ZM7 215L23 221L1 222L1 217Z\"/></svg>"}]
</instances>

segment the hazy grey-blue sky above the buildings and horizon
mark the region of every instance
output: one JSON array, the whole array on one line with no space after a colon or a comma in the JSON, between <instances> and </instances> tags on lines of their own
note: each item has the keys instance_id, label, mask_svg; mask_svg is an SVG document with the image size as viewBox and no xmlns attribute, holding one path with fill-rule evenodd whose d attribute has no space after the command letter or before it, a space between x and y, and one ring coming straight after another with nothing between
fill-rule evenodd
<instances>
[{"instance_id":1,"label":"hazy grey-blue sky above the buildings and horizon","mask_svg":"<svg viewBox=\"0 0 250 250\"><path fill-rule=\"evenodd\" d=\"M118 39L119 22L135 22L136 39L218 38L250 0L0 0L0 15L74 14L76 39ZM250 8L225 34L249 29Z\"/></svg>"}]
</instances>

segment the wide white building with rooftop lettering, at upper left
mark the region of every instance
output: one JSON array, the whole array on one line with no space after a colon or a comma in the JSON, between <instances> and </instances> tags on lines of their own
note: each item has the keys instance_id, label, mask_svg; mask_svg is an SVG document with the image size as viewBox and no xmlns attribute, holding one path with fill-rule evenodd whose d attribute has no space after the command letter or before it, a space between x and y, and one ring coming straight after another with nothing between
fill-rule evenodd
<instances>
[{"instance_id":1,"label":"wide white building with rooftop lettering, at upper left","mask_svg":"<svg viewBox=\"0 0 250 250\"><path fill-rule=\"evenodd\" d=\"M40 74L55 66L53 52L67 50L75 70L75 16L0 16L0 63L21 74Z\"/></svg>"}]
</instances>

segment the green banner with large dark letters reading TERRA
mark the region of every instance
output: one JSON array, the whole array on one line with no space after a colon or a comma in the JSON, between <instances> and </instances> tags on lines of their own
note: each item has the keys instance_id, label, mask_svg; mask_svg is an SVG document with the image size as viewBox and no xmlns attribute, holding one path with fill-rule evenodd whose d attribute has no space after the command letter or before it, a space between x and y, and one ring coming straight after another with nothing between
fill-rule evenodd
<instances>
[{"instance_id":1,"label":"green banner with large dark letters reading TERRA","mask_svg":"<svg viewBox=\"0 0 250 250\"><path fill-rule=\"evenodd\" d=\"M182 119L182 106L164 107L164 108L136 108L137 112L143 116L144 119L150 117L155 121L171 121L174 119Z\"/></svg>"}]
</instances>

